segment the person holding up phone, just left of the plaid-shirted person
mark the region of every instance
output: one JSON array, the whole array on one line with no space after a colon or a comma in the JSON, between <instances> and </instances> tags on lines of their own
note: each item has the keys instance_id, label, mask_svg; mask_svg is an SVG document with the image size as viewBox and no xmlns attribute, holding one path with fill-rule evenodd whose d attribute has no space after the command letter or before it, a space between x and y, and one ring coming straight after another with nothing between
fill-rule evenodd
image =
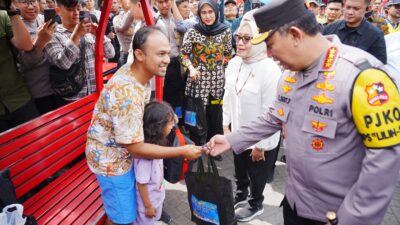
<instances>
[{"instance_id":1,"label":"person holding up phone, just left of the plaid-shirted person","mask_svg":"<svg viewBox=\"0 0 400 225\"><path fill-rule=\"evenodd\" d=\"M43 52L44 47L53 37L56 12L54 9L46 9L45 15L40 15L38 0L18 0L16 6L21 11L22 21L33 44L31 50L20 51L21 69L39 114L45 114L61 105L61 99L54 95L51 88L50 64Z\"/></svg>"}]
</instances>

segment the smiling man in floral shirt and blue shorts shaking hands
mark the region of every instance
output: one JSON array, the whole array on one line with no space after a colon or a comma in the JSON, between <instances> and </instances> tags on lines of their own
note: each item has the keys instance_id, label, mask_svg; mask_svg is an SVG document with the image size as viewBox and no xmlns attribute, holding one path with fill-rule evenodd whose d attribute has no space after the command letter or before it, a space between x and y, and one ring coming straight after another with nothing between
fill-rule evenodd
<instances>
[{"instance_id":1,"label":"smiling man in floral shirt and blue shorts shaking hands","mask_svg":"<svg viewBox=\"0 0 400 225\"><path fill-rule=\"evenodd\" d=\"M107 224L131 224L136 219L132 156L195 159L201 155L196 146L144 143L142 118L144 106L150 100L149 80L154 75L165 76L170 47L159 29L143 27L135 34L132 49L134 62L121 67L107 83L88 131L87 161L102 191Z\"/></svg>"}]
</instances>

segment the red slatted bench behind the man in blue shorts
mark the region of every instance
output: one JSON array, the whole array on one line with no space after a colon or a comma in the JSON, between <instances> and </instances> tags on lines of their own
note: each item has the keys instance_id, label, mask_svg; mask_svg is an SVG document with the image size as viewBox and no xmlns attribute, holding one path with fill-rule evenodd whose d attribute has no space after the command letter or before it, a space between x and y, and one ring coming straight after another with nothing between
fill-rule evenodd
<instances>
[{"instance_id":1,"label":"red slatted bench behind the man in blue shorts","mask_svg":"<svg viewBox=\"0 0 400 225\"><path fill-rule=\"evenodd\" d=\"M93 94L0 136L0 169L10 168L20 198L85 152ZM23 202L39 224L102 224L105 213L86 159Z\"/></svg>"}]
</instances>

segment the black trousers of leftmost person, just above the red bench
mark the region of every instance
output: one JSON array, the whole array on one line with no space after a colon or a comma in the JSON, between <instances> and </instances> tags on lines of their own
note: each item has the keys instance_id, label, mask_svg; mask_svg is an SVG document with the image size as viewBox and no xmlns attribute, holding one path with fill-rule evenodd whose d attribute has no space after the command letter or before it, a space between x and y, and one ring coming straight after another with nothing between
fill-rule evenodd
<instances>
[{"instance_id":1,"label":"black trousers of leftmost person, just above the red bench","mask_svg":"<svg viewBox=\"0 0 400 225\"><path fill-rule=\"evenodd\" d=\"M6 109L7 111L7 109ZM38 117L39 113L33 100L29 100L14 112L0 116L0 133Z\"/></svg>"}]
</instances>

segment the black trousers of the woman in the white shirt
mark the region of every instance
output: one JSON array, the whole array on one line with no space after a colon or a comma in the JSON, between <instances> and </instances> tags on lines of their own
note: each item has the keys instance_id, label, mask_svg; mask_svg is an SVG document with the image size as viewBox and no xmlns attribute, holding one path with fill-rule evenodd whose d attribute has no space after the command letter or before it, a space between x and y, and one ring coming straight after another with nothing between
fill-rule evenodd
<instances>
[{"instance_id":1,"label":"black trousers of the woman in the white shirt","mask_svg":"<svg viewBox=\"0 0 400 225\"><path fill-rule=\"evenodd\" d=\"M265 161L253 162L250 156L251 149L238 155L233 153L236 194L239 197L245 197L248 195L248 188L250 187L249 205L251 207L262 206L264 201L263 191L265 184L272 181L279 146L280 144L273 150L264 152Z\"/></svg>"}]
</instances>

